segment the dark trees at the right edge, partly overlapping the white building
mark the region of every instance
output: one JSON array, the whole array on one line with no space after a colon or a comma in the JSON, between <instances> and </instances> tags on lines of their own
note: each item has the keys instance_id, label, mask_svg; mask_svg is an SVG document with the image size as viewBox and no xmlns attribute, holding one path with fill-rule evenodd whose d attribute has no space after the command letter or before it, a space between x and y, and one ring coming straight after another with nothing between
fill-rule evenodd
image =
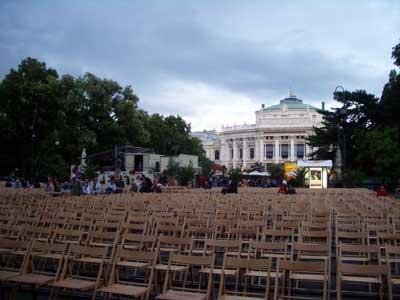
<instances>
[{"instance_id":1,"label":"dark trees at the right edge, partly overlapping the white building","mask_svg":"<svg viewBox=\"0 0 400 300\"><path fill-rule=\"evenodd\" d=\"M309 144L318 149L314 157L336 159L340 147L345 164L344 183L357 185L365 178L398 185L400 178L400 43L393 47L397 69L380 98L364 90L336 92L341 107L320 111L323 127L315 128Z\"/></svg>"}]
</instances>

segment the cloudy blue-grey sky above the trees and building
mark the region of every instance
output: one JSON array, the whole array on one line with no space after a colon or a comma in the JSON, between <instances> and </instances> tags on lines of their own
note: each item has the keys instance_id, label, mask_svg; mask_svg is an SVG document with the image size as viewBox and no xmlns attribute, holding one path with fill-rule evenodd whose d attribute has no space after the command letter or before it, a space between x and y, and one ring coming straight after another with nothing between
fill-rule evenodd
<instances>
[{"instance_id":1,"label":"cloudy blue-grey sky above the trees and building","mask_svg":"<svg viewBox=\"0 0 400 300\"><path fill-rule=\"evenodd\" d=\"M132 85L192 129L255 121L289 90L334 106L337 85L380 96L400 1L0 1L0 78L27 56Z\"/></svg>"}]
</instances>

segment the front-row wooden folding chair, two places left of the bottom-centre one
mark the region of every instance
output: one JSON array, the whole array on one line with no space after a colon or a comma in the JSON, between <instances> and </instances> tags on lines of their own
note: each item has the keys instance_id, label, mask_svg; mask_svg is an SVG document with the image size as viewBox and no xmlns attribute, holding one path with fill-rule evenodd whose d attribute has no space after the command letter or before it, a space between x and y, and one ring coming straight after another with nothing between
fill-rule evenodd
<instances>
[{"instance_id":1,"label":"front-row wooden folding chair, two places left of the bottom-centre one","mask_svg":"<svg viewBox=\"0 0 400 300\"><path fill-rule=\"evenodd\" d=\"M97 290L105 283L104 263L108 247L70 245L60 279L52 283L57 297L59 289L88 292L92 300Z\"/></svg>"}]
</instances>

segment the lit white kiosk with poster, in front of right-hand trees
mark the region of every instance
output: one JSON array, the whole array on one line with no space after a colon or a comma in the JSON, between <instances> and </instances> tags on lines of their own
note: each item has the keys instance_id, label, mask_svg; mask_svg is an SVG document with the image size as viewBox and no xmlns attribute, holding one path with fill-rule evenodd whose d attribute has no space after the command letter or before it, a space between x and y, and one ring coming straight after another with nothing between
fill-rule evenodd
<instances>
[{"instance_id":1,"label":"lit white kiosk with poster, in front of right-hand trees","mask_svg":"<svg viewBox=\"0 0 400 300\"><path fill-rule=\"evenodd\" d=\"M332 168L331 160L298 160L298 168L305 168L305 180L310 189L325 189L328 187L328 169Z\"/></svg>"}]
</instances>

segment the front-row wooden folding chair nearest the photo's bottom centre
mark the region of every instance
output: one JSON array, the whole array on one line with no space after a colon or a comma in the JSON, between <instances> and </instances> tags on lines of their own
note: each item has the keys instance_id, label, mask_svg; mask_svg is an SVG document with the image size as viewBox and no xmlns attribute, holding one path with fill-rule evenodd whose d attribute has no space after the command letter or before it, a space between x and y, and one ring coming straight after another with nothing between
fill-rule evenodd
<instances>
[{"instance_id":1,"label":"front-row wooden folding chair nearest the photo's bottom centre","mask_svg":"<svg viewBox=\"0 0 400 300\"><path fill-rule=\"evenodd\" d=\"M211 256L192 256L171 253L168 262L168 268L165 274L163 293L158 295L158 300L211 300L212 292L212 275L208 275L208 280L205 281L205 286L202 284L202 274L199 274L199 269L208 268L212 274L214 268L214 255ZM173 280L173 275L176 272L172 271L172 265L181 265L184 267L183 272L189 272L182 276L183 280ZM190 277L191 280L187 278Z\"/></svg>"}]
</instances>

